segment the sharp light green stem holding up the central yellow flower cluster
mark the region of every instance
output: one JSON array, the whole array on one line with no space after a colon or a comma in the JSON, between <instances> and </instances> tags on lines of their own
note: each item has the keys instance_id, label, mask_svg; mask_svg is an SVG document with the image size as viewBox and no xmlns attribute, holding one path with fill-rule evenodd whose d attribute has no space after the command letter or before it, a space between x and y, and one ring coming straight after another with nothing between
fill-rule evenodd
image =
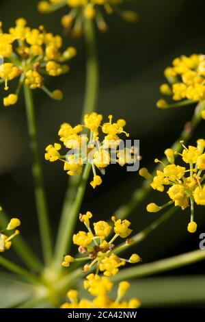
<instances>
[{"instance_id":1,"label":"sharp light green stem holding up the central yellow flower cluster","mask_svg":"<svg viewBox=\"0 0 205 322\"><path fill-rule=\"evenodd\" d=\"M72 208L70 212L67 214L67 220L64 224L64 230L61 233L61 236L56 245L55 252L55 267L58 270L61 269L61 261L64 255L70 251L70 246L72 244L72 234L74 232L74 227L77 223L79 211L81 208L81 203L83 201L83 197L85 194L85 188L87 184L88 177L90 175L91 164L88 163L85 165L83 170L83 175L81 178L81 182L79 188L77 190L77 195L72 203Z\"/></svg>"}]
</instances>

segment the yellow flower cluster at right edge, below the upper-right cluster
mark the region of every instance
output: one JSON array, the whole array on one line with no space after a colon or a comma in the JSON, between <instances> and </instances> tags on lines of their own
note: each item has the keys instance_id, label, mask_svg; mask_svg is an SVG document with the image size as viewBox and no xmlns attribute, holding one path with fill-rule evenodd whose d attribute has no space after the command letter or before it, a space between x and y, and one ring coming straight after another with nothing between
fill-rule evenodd
<instances>
[{"instance_id":1,"label":"yellow flower cluster at right edge, below the upper-right cluster","mask_svg":"<svg viewBox=\"0 0 205 322\"><path fill-rule=\"evenodd\" d=\"M154 190L163 192L165 186L168 186L167 195L171 201L165 203L163 206L157 206L156 203L150 203L147 206L148 212L158 212L174 203L174 206L186 209L191 208L191 221L187 227L188 232L195 232L197 224L193 221L194 203L205 206L205 140L197 140L197 146L185 147L181 141L184 149L182 153L174 152L172 149L165 150L165 156L169 162L168 165L155 159L155 162L161 162L163 170L157 170L156 175L152 177L146 168L142 168L139 174L147 179L151 179L150 186ZM179 155L184 166L175 164L174 155ZM188 165L188 169L187 169Z\"/></svg>"}]
</instances>

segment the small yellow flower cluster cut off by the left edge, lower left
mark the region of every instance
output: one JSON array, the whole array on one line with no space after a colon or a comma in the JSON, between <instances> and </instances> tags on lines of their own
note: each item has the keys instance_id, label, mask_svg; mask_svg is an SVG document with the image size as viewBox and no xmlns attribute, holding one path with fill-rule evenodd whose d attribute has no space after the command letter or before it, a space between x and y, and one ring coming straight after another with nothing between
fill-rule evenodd
<instances>
[{"instance_id":1,"label":"small yellow flower cluster cut off by the left edge, lower left","mask_svg":"<svg viewBox=\"0 0 205 322\"><path fill-rule=\"evenodd\" d=\"M2 211L2 208L0 206L0 212ZM20 226L20 220L18 218L12 218L10 220L10 223L8 223L8 226L6 227L5 230L1 230L0 232L0 253L3 253L3 251L7 251L8 249L10 249L10 247L12 246L12 238L14 238L15 236L17 236L19 234L19 230L15 230L16 227ZM13 234L11 234L10 236L8 236L8 233L11 230L15 230L15 232ZM6 234L5 231L7 231Z\"/></svg>"}]
</instances>

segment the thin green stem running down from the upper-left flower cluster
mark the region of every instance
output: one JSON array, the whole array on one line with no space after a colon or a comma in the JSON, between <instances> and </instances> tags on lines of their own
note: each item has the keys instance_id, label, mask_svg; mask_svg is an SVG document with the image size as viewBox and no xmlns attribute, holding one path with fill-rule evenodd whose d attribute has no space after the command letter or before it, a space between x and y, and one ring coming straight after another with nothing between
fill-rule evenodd
<instances>
[{"instance_id":1,"label":"thin green stem running down from the upper-left flower cluster","mask_svg":"<svg viewBox=\"0 0 205 322\"><path fill-rule=\"evenodd\" d=\"M29 86L24 85L25 105L27 110L27 125L29 130L30 147L33 157L33 179L35 184L36 207L38 212L38 222L40 225L40 236L42 240L42 249L46 264L51 262L52 242L49 225L49 214L46 204L46 195L42 178L42 167L38 156L38 140L36 132L36 117L33 106L33 95Z\"/></svg>"}]
</instances>

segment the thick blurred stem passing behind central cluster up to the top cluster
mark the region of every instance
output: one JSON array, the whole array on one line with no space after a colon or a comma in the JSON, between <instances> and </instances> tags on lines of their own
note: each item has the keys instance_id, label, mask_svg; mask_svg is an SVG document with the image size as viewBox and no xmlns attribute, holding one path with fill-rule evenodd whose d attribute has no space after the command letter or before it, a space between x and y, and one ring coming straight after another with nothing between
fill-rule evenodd
<instances>
[{"instance_id":1,"label":"thick blurred stem passing behind central cluster up to the top cluster","mask_svg":"<svg viewBox=\"0 0 205 322\"><path fill-rule=\"evenodd\" d=\"M85 101L83 105L83 112L81 116L81 123L83 116L94 112L98 103L99 91L99 68L98 68L98 52L96 46L96 32L94 21L85 20L85 45L87 49L87 66L86 66L86 88L85 88ZM68 221L68 215L72 208L74 197L77 193L77 187L81 182L81 177L74 175L70 177L68 188L64 199L64 206L61 213L61 221L59 223L59 230L57 234L57 242L55 251L59 248L61 235L64 232L64 226Z\"/></svg>"}]
</instances>

